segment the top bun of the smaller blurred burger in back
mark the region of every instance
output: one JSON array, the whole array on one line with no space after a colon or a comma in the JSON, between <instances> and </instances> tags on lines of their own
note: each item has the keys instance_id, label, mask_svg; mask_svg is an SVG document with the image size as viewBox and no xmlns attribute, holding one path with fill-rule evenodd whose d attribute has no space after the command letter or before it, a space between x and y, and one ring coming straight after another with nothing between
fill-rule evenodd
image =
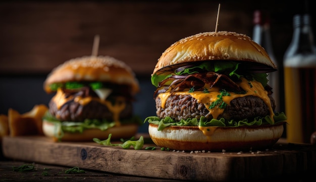
<instances>
[{"instance_id":1,"label":"top bun of the smaller blurred burger in back","mask_svg":"<svg viewBox=\"0 0 316 182\"><path fill-rule=\"evenodd\" d=\"M111 82L130 85L133 94L139 91L139 83L132 69L111 56L83 56L66 61L47 76L44 90L50 93L50 84L69 81Z\"/></svg>"}]
</instances>

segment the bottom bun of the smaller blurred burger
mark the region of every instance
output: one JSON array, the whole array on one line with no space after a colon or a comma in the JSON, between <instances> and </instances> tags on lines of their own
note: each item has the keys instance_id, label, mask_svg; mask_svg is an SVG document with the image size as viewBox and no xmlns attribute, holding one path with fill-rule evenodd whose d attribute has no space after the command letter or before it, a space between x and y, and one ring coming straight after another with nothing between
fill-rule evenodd
<instances>
[{"instance_id":1,"label":"bottom bun of the smaller blurred burger","mask_svg":"<svg viewBox=\"0 0 316 182\"><path fill-rule=\"evenodd\" d=\"M98 138L100 140L106 140L109 138L109 134L112 134L111 140L118 139L128 139L133 136L138 131L137 124L127 124L121 125L120 127L112 127L107 130L99 130L99 129L86 129L82 133L68 133L65 132L64 136L59 140L55 135L56 127L54 123L47 122L43 120L43 133L47 137L52 137L52 139L57 141L68 141L68 142L84 142L84 141L93 141L93 138Z\"/></svg>"}]
</instances>

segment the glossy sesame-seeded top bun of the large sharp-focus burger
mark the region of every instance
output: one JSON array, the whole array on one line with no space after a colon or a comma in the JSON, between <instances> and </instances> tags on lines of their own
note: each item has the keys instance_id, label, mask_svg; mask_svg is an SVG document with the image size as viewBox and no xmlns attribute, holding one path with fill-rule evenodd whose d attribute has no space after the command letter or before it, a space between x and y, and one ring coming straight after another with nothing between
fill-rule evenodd
<instances>
[{"instance_id":1,"label":"glossy sesame-seeded top bun of the large sharp-focus burger","mask_svg":"<svg viewBox=\"0 0 316 182\"><path fill-rule=\"evenodd\" d=\"M164 68L173 65L203 60L237 60L276 69L266 50L250 37L219 31L198 33L173 43L158 59L152 75L160 74Z\"/></svg>"}]
</instances>

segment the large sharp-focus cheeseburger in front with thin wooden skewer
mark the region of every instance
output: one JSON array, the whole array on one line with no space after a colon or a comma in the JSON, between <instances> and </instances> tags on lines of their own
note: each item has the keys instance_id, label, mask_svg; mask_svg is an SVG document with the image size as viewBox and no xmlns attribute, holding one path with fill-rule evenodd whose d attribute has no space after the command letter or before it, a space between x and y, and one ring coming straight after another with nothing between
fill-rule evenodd
<instances>
[{"instance_id":1,"label":"large sharp-focus cheeseburger in front with thin wooden skewer","mask_svg":"<svg viewBox=\"0 0 316 182\"><path fill-rule=\"evenodd\" d=\"M148 133L174 150L243 150L274 145L286 116L274 112L264 48L236 32L204 32L168 47L151 74L156 116Z\"/></svg>"}]
</instances>

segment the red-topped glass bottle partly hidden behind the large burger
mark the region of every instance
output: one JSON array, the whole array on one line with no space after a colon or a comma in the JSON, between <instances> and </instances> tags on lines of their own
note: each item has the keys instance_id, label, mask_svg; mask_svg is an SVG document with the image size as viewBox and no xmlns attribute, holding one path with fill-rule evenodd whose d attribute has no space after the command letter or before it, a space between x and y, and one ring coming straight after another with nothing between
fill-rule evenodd
<instances>
[{"instance_id":1,"label":"red-topped glass bottle partly hidden behind the large burger","mask_svg":"<svg viewBox=\"0 0 316 182\"><path fill-rule=\"evenodd\" d=\"M271 35L270 35L270 19L267 14L259 10L254 11L253 14L253 34L252 40L264 47L269 54L270 58L276 66L278 66L277 59L274 55ZM268 84L272 87L272 97L275 100L275 111L280 112L280 85L279 85L279 72L271 72L268 74Z\"/></svg>"}]
</instances>

